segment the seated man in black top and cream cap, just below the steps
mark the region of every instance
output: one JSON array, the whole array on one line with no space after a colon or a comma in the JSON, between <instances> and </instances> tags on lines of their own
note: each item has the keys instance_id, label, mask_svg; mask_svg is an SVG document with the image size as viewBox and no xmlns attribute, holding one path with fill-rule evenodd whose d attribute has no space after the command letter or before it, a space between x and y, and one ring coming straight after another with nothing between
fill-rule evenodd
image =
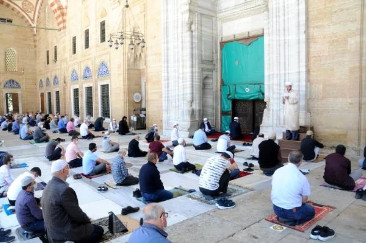
<instances>
[{"instance_id":1,"label":"seated man in black top and cream cap, just below the steps","mask_svg":"<svg viewBox=\"0 0 366 243\"><path fill-rule=\"evenodd\" d=\"M262 141L258 145L259 148L259 168L264 175L271 176L282 164L282 155L280 146L276 144L276 132L272 131L268 134L268 140Z\"/></svg>"}]
</instances>

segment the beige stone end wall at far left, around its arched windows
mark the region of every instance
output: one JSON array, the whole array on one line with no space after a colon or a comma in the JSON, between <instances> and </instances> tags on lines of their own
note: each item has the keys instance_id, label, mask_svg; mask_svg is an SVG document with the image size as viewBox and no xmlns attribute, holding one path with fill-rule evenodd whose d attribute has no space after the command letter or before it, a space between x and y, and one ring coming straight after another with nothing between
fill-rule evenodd
<instances>
[{"instance_id":1,"label":"beige stone end wall at far left, around its arched windows","mask_svg":"<svg viewBox=\"0 0 366 243\"><path fill-rule=\"evenodd\" d=\"M13 11L0 5L1 18L13 20L13 24L26 25L25 20L15 15ZM5 93L20 92L21 111L38 110L37 100L34 100L33 94L36 92L36 58L33 29L24 27L0 25L0 114L6 110ZM5 69L5 50L12 48L17 54L17 72L8 72ZM22 70L24 69L24 73ZM4 82L8 79L14 79L20 83L19 89L4 89ZM20 107L19 107L20 108Z\"/></svg>"}]
</instances>

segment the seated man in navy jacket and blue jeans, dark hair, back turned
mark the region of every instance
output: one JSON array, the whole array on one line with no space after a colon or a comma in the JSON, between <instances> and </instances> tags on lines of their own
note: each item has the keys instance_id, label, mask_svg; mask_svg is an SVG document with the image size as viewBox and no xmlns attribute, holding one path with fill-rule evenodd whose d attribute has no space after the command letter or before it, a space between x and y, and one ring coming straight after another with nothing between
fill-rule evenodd
<instances>
[{"instance_id":1,"label":"seated man in navy jacket and blue jeans, dark hair, back turned","mask_svg":"<svg viewBox=\"0 0 366 243\"><path fill-rule=\"evenodd\" d=\"M156 167L158 162L157 153L149 153L147 163L139 172L140 190L146 202L163 202L173 198L171 191L164 190L163 182L160 179L160 172Z\"/></svg>"}]
</instances>

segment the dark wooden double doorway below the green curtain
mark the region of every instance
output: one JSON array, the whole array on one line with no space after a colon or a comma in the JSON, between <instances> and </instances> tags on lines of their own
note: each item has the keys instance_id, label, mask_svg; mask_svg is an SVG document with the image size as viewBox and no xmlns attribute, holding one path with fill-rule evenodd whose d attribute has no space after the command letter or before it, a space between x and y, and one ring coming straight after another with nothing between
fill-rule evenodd
<instances>
[{"instance_id":1,"label":"dark wooden double doorway below the green curtain","mask_svg":"<svg viewBox=\"0 0 366 243\"><path fill-rule=\"evenodd\" d=\"M261 126L266 102L261 99L233 100L232 120L239 117L239 123L243 133L254 132L257 126Z\"/></svg>"}]
</instances>

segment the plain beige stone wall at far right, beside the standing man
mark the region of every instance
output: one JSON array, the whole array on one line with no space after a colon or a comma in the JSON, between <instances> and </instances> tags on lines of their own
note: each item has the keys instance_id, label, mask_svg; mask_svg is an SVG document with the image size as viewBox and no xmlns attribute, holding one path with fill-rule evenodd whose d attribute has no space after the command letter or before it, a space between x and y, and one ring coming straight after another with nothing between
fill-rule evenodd
<instances>
[{"instance_id":1,"label":"plain beige stone wall at far right, beside the standing man","mask_svg":"<svg viewBox=\"0 0 366 243\"><path fill-rule=\"evenodd\" d=\"M309 0L307 6L311 125L320 141L328 146L347 145L350 153L365 145L364 126L359 130L365 122L359 113L366 109L362 86L366 79L360 76L362 65L365 70L365 62L360 63L360 33L365 29L361 3ZM365 58L365 53L361 55Z\"/></svg>"}]
</instances>

